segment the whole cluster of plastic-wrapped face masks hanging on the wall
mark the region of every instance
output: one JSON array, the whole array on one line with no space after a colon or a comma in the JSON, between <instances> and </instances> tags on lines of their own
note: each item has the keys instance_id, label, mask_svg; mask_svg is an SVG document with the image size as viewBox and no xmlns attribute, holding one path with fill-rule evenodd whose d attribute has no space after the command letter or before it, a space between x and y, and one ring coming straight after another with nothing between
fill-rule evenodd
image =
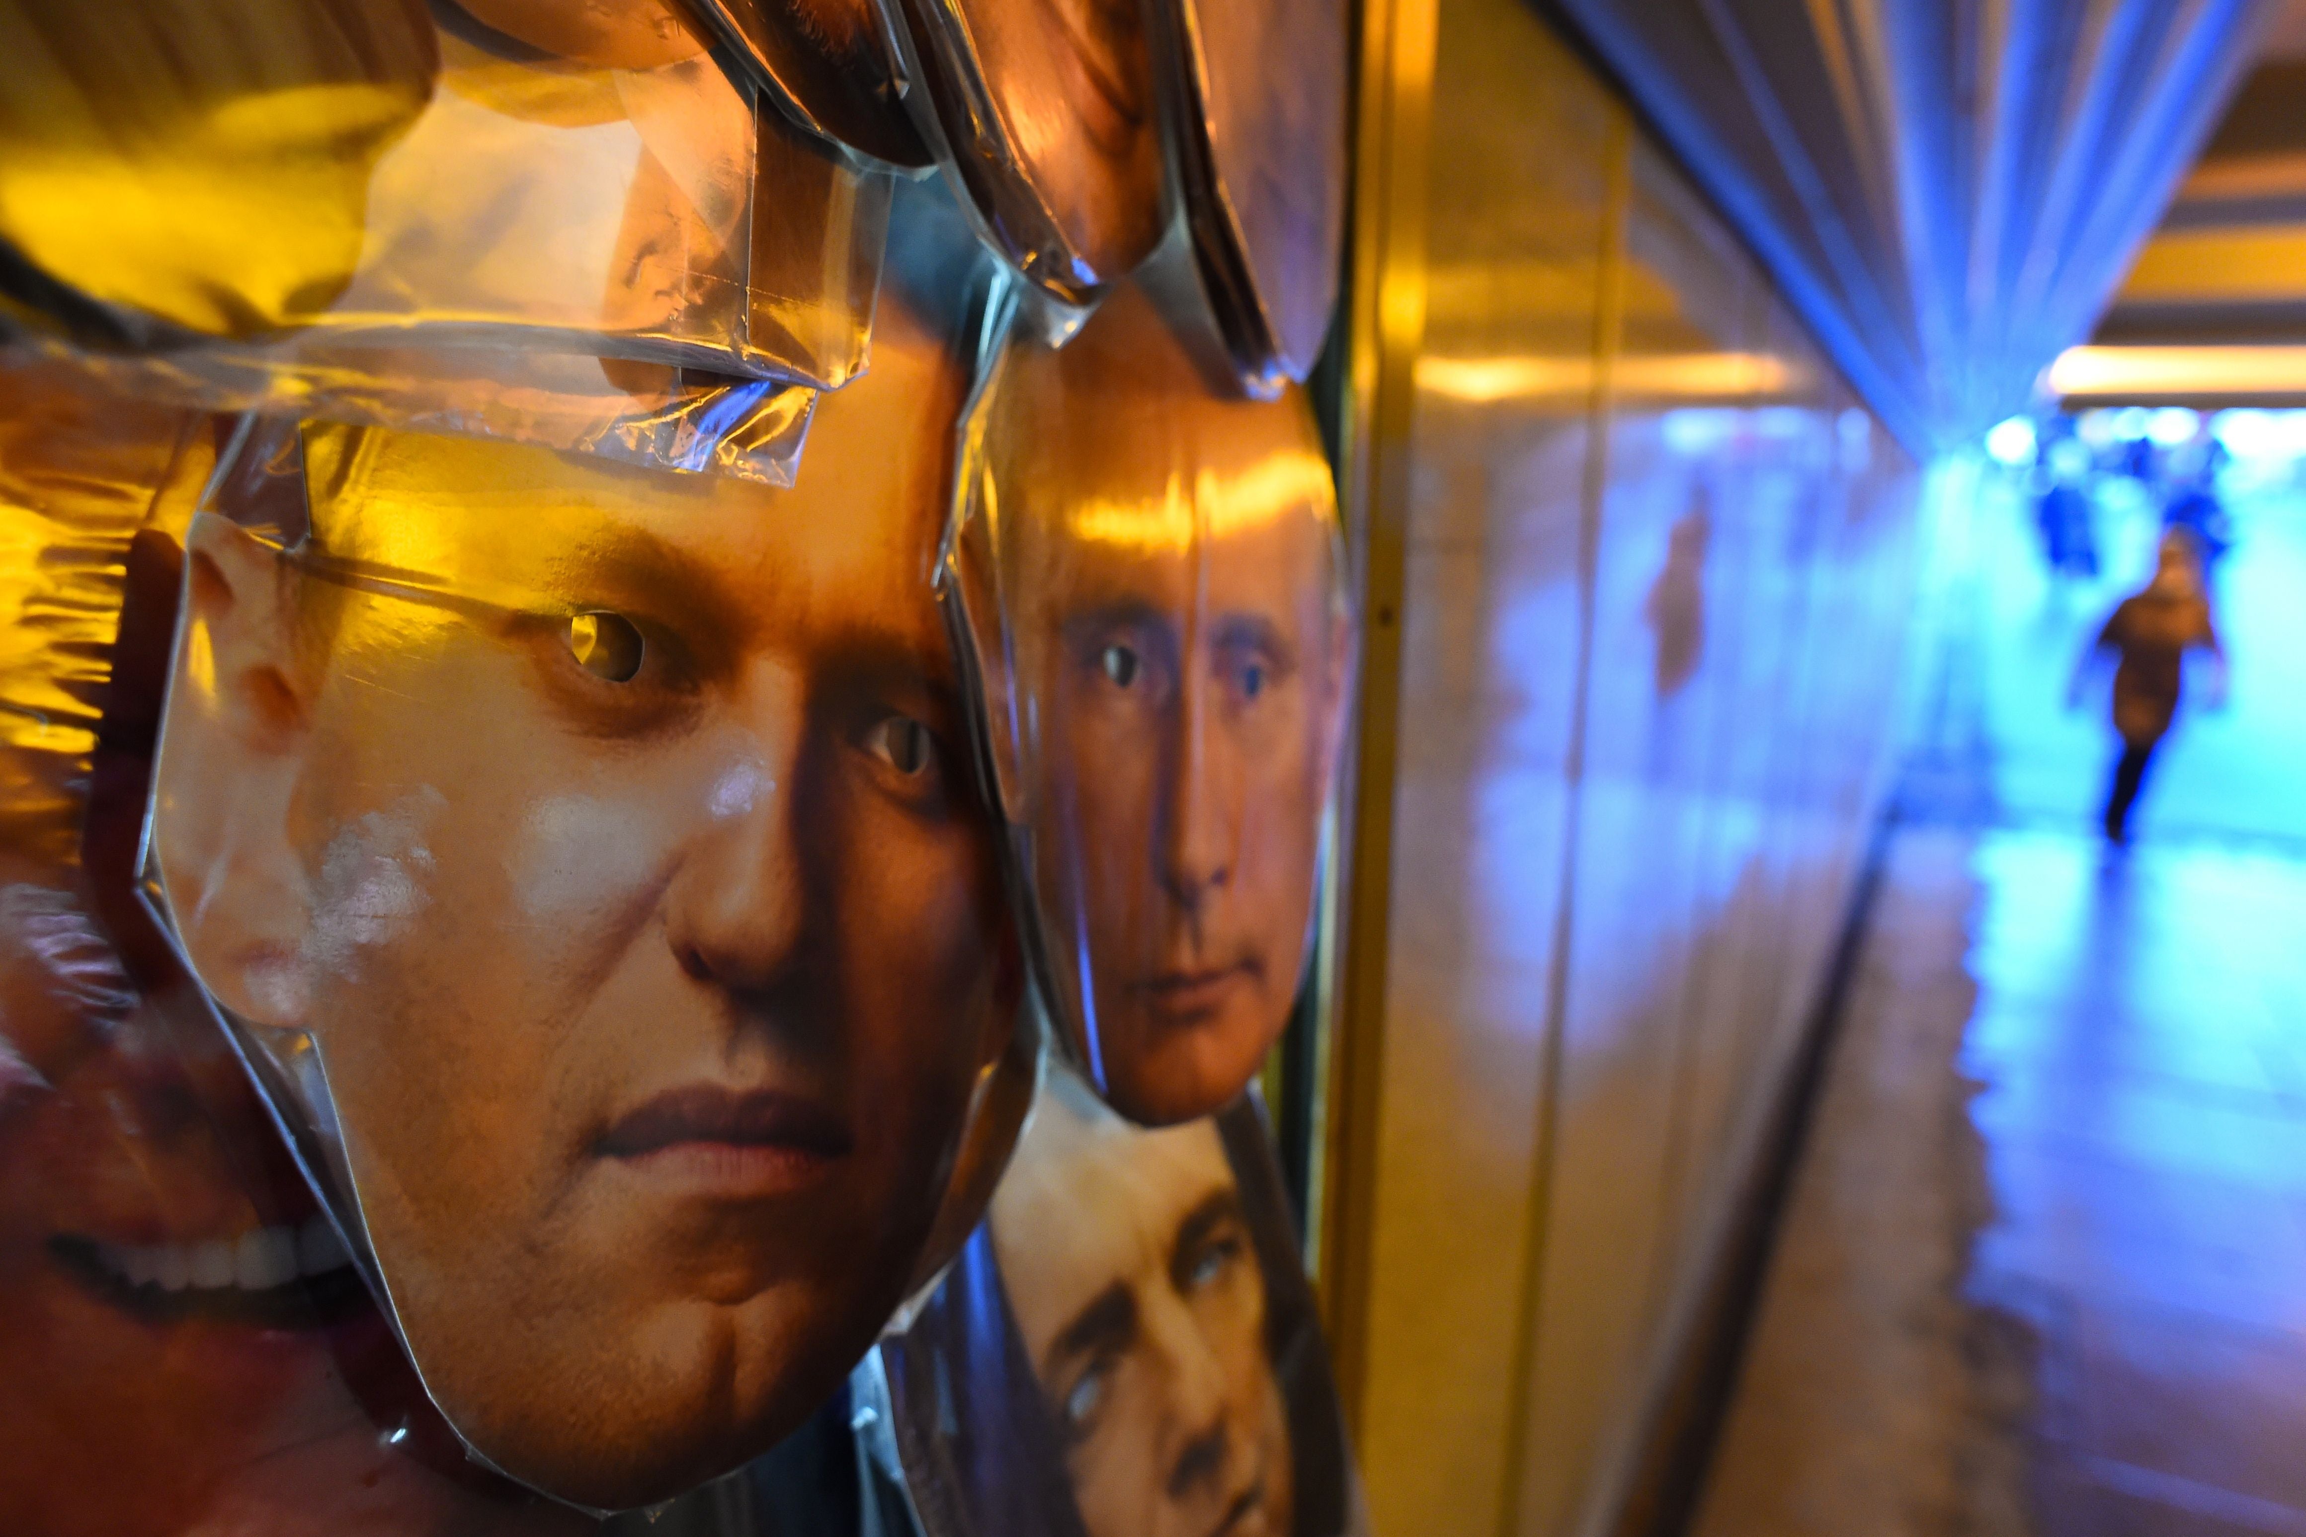
<instances>
[{"instance_id":1,"label":"whole cluster of plastic-wrapped face masks hanging on the wall","mask_svg":"<svg viewBox=\"0 0 2306 1537\"><path fill-rule=\"evenodd\" d=\"M0 1528L1347 1530L1342 7L0 37Z\"/></svg>"}]
</instances>

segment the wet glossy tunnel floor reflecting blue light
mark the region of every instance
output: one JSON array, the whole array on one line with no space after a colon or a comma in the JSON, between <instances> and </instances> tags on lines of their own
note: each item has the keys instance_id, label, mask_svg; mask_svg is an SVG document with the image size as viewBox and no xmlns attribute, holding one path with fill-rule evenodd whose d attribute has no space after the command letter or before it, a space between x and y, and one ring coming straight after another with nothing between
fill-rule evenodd
<instances>
[{"instance_id":1,"label":"wet glossy tunnel floor reflecting blue light","mask_svg":"<svg viewBox=\"0 0 2306 1537\"><path fill-rule=\"evenodd\" d=\"M2306 1532L2306 505L2239 509L2235 707L2181 721L2128 853L2057 710L2126 571L2050 592L2011 512L1985 783L1893 843L1704 1537Z\"/></svg>"}]
</instances>

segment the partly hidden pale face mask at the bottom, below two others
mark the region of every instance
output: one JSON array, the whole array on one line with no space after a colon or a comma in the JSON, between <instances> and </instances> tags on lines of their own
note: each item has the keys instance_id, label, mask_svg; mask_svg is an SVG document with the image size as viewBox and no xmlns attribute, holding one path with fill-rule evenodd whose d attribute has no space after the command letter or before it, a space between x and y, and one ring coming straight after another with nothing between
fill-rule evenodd
<instances>
[{"instance_id":1,"label":"partly hidden pale face mask at the bottom, below two others","mask_svg":"<svg viewBox=\"0 0 2306 1537\"><path fill-rule=\"evenodd\" d=\"M881 1364L929 1537L1367 1530L1252 1099L1146 1131L1054 1069Z\"/></svg>"}]
</instances>

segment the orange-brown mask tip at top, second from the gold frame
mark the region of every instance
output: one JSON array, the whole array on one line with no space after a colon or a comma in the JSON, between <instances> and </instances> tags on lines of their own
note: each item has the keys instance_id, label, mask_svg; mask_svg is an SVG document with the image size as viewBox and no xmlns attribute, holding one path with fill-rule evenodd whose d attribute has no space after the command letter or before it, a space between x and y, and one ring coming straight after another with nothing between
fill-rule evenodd
<instances>
[{"instance_id":1,"label":"orange-brown mask tip at top, second from the gold frame","mask_svg":"<svg viewBox=\"0 0 2306 1537\"><path fill-rule=\"evenodd\" d=\"M1093 304L1167 226L1137 0L888 0L915 120L987 244L1061 304Z\"/></svg>"}]
</instances>

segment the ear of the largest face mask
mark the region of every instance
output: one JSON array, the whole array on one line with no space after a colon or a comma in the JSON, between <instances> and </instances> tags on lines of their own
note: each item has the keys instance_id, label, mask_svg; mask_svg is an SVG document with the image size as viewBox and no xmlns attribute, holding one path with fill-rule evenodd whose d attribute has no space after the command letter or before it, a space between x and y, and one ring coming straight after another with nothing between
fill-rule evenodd
<instances>
[{"instance_id":1,"label":"ear of the largest face mask","mask_svg":"<svg viewBox=\"0 0 2306 1537\"><path fill-rule=\"evenodd\" d=\"M233 523L191 523L152 846L178 938L217 1002L304 1028L311 883L288 809L311 698L284 576L279 551Z\"/></svg>"}]
</instances>

